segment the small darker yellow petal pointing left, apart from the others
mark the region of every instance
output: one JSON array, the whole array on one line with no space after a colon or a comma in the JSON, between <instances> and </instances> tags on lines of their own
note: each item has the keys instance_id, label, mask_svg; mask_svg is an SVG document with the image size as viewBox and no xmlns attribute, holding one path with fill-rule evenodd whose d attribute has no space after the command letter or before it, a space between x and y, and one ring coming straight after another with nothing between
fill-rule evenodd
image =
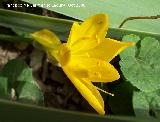
<instances>
[{"instance_id":1,"label":"small darker yellow petal pointing left, apart from the others","mask_svg":"<svg viewBox=\"0 0 160 122\"><path fill-rule=\"evenodd\" d=\"M43 29L32 33L32 37L46 48L52 49L55 46L61 44L59 38L48 29Z\"/></svg>"}]
</instances>

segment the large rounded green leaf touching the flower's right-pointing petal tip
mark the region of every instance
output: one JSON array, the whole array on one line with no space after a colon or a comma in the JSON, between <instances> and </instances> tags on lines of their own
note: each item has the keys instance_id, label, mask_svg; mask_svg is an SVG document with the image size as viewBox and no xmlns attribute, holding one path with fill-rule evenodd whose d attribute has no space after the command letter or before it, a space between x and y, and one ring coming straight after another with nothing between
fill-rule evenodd
<instances>
[{"instance_id":1,"label":"large rounded green leaf touching the flower's right-pointing petal tip","mask_svg":"<svg viewBox=\"0 0 160 122\"><path fill-rule=\"evenodd\" d=\"M134 40L133 38L128 36L123 40ZM159 41L151 37L139 41L136 47L126 49L120 55L120 66L124 77L141 91L151 92L160 89L159 52Z\"/></svg>"}]
</instances>

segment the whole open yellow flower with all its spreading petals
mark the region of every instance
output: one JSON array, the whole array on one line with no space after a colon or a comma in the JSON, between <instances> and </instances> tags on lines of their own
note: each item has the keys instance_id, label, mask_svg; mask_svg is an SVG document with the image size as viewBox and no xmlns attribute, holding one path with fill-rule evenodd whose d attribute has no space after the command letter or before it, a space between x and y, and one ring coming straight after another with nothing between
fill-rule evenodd
<instances>
[{"instance_id":1,"label":"whole open yellow flower with all its spreading petals","mask_svg":"<svg viewBox=\"0 0 160 122\"><path fill-rule=\"evenodd\" d=\"M112 82L119 79L118 71L109 63L131 42L105 38L108 18L98 14L81 25L73 23L67 43L47 29L32 34L61 65L81 95L101 115L105 114L104 101L92 82Z\"/></svg>"}]
</instances>

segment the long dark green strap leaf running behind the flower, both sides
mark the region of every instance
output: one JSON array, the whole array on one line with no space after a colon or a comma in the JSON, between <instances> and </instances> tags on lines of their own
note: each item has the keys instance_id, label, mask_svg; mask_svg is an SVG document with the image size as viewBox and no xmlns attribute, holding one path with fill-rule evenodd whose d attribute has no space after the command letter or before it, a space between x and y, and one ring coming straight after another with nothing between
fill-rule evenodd
<instances>
[{"instance_id":1,"label":"long dark green strap leaf running behind the flower, both sides","mask_svg":"<svg viewBox=\"0 0 160 122\"><path fill-rule=\"evenodd\" d=\"M68 34L70 32L73 21L59 19L59 18L51 18L46 16L38 16L34 14L28 14L17 11L10 11L5 9L0 9L0 25L11 28L12 30L18 32L21 36L11 37L9 35L0 35L0 39L4 41L26 41L31 43L33 40L27 37L23 37L24 35L30 35L30 33L38 31L43 28L50 29L55 32L58 37L67 41ZM36 24L35 24L36 22ZM23 34L25 33L25 34ZM117 40L121 40L123 36L127 34L136 34L140 37L145 36L153 36L157 39L160 39L160 34L154 33L146 33L134 30L126 30L119 28L109 28L107 36L110 38L114 38ZM37 45L37 44L36 44Z\"/></svg>"}]
</instances>

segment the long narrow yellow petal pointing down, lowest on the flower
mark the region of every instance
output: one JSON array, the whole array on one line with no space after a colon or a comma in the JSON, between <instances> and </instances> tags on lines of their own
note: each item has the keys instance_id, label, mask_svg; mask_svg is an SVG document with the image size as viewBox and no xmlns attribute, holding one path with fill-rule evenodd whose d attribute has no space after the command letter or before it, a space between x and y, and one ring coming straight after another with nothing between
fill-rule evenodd
<instances>
[{"instance_id":1,"label":"long narrow yellow petal pointing down, lowest on the flower","mask_svg":"<svg viewBox=\"0 0 160 122\"><path fill-rule=\"evenodd\" d=\"M99 91L88 80L82 80L75 77L67 67L62 67L68 78L81 93L81 95L88 101L88 103L101 115L105 114L104 101Z\"/></svg>"}]
</instances>

